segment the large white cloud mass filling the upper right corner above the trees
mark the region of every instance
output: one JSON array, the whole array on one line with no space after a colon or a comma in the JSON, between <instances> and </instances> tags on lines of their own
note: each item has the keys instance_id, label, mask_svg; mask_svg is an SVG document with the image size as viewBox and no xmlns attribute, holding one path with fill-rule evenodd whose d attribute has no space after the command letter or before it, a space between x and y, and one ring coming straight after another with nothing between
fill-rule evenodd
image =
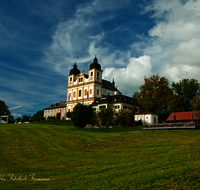
<instances>
[{"instance_id":1,"label":"large white cloud mass filling the upper right corner above the trees","mask_svg":"<svg viewBox=\"0 0 200 190\"><path fill-rule=\"evenodd\" d=\"M156 25L149 30L150 42L140 47L151 57L153 71L170 82L200 81L200 0L154 0L143 13L148 11Z\"/></svg>"}]
</instances>

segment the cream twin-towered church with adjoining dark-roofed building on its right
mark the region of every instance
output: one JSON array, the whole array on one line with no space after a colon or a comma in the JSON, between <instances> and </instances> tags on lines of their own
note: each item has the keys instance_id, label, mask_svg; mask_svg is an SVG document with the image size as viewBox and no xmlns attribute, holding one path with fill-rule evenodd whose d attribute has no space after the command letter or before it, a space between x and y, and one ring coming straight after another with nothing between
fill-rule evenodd
<instances>
[{"instance_id":1,"label":"cream twin-towered church with adjoining dark-roofed building on its right","mask_svg":"<svg viewBox=\"0 0 200 190\"><path fill-rule=\"evenodd\" d=\"M95 53L88 74L77 68L76 61L68 75L66 111L73 111L76 104L90 105L95 111L101 108L138 110L139 104L134 98L122 95L113 81L102 79L101 65Z\"/></svg>"}]
</instances>

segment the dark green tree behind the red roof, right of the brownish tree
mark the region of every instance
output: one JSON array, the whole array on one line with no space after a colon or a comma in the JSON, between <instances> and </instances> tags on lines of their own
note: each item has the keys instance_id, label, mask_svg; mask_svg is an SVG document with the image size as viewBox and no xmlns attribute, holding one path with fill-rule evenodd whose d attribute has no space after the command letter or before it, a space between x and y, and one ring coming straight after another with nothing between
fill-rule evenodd
<instances>
[{"instance_id":1,"label":"dark green tree behind the red roof, right of the brownish tree","mask_svg":"<svg viewBox=\"0 0 200 190\"><path fill-rule=\"evenodd\" d=\"M172 82L173 91L183 98L183 111L193 110L191 100L197 96L200 84L196 79L182 79L179 82Z\"/></svg>"}]
</instances>

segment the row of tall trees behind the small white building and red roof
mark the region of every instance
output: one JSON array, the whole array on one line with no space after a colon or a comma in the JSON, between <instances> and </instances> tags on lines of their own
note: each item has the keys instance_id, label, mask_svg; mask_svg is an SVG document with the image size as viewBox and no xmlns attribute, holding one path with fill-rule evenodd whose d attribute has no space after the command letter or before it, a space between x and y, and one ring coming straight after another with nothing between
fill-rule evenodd
<instances>
[{"instance_id":1,"label":"row of tall trees behind the small white building and red roof","mask_svg":"<svg viewBox=\"0 0 200 190\"><path fill-rule=\"evenodd\" d=\"M165 77L145 76L140 92L135 92L133 97L137 99L143 111L196 111L196 116L200 117L200 84L196 79L182 79L172 82L170 86Z\"/></svg>"}]
</instances>

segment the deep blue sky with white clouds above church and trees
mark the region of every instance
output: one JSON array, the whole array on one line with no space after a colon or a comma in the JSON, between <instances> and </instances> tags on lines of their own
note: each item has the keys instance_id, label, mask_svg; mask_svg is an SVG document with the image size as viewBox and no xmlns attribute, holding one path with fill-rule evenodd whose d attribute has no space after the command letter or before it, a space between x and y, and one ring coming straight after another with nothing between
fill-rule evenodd
<instances>
[{"instance_id":1,"label":"deep blue sky with white clouds above church and trees","mask_svg":"<svg viewBox=\"0 0 200 190\"><path fill-rule=\"evenodd\" d=\"M16 117L66 101L75 59L132 96L144 76L200 81L200 0L0 0L0 100Z\"/></svg>"}]
</instances>

